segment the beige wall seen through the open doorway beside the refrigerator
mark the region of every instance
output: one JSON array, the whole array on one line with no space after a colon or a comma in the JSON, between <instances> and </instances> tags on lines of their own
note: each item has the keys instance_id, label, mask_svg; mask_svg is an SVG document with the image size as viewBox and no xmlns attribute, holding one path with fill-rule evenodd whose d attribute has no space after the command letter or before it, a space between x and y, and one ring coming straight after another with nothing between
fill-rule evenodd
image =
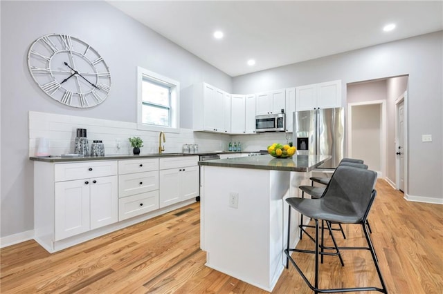
<instances>
[{"instance_id":1,"label":"beige wall seen through the open doorway beside the refrigerator","mask_svg":"<svg viewBox=\"0 0 443 294\"><path fill-rule=\"evenodd\" d=\"M351 137L352 158L363 159L370 170L380 172L381 104L352 106Z\"/></svg>"}]
</instances>

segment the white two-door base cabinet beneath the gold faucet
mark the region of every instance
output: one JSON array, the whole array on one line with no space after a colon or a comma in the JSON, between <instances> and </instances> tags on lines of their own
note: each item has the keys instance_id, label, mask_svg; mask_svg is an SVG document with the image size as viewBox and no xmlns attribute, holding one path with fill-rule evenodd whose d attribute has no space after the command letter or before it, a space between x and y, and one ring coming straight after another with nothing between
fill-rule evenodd
<instances>
[{"instance_id":1,"label":"white two-door base cabinet beneath the gold faucet","mask_svg":"<svg viewBox=\"0 0 443 294\"><path fill-rule=\"evenodd\" d=\"M199 196L199 157L161 158L160 207Z\"/></svg>"}]
</instances>

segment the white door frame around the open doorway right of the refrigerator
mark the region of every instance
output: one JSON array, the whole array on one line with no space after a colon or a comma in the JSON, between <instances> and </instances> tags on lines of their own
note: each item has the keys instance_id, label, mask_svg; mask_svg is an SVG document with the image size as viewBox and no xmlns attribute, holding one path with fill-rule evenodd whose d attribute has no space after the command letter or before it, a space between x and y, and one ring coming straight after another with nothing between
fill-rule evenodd
<instances>
[{"instance_id":1,"label":"white door frame around the open doorway right of the refrigerator","mask_svg":"<svg viewBox=\"0 0 443 294\"><path fill-rule=\"evenodd\" d=\"M349 157L352 157L352 107L354 106L365 106L365 105L373 105L380 104L381 105L381 115L380 115L380 124L381 124L381 134L380 134L380 155L381 155L381 163L380 163L380 172L381 175L379 177L386 177L386 100L373 100L373 101L363 101L363 102L354 102L347 104L347 154Z\"/></svg>"}]
</instances>

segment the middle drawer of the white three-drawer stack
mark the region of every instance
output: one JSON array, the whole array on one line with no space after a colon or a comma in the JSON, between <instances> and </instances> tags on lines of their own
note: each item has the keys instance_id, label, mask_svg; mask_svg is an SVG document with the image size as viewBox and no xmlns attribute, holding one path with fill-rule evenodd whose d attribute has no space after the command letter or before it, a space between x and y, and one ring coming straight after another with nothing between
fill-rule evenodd
<instances>
[{"instance_id":1,"label":"middle drawer of the white three-drawer stack","mask_svg":"<svg viewBox=\"0 0 443 294\"><path fill-rule=\"evenodd\" d=\"M118 176L118 197L159 189L159 172L131 173Z\"/></svg>"}]
</instances>

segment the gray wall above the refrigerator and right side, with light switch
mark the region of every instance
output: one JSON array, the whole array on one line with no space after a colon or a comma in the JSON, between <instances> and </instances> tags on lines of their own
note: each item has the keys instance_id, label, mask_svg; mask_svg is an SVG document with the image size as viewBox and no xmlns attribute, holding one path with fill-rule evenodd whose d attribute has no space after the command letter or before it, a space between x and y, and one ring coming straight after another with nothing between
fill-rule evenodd
<instances>
[{"instance_id":1,"label":"gray wall above the refrigerator and right side, with light switch","mask_svg":"<svg viewBox=\"0 0 443 294\"><path fill-rule=\"evenodd\" d=\"M443 31L233 78L233 91L260 92L341 79L346 84L408 77L408 187L411 196L443 198ZM431 144L422 134L432 134Z\"/></svg>"}]
</instances>

